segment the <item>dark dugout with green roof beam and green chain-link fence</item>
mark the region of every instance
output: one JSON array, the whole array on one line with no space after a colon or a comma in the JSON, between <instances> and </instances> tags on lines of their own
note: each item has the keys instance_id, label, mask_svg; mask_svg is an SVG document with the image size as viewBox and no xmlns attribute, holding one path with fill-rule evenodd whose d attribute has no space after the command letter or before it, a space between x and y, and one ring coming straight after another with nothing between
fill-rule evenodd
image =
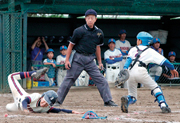
<instances>
[{"instance_id":1,"label":"dark dugout with green roof beam and green chain-link fence","mask_svg":"<svg viewBox=\"0 0 180 123\"><path fill-rule=\"evenodd\" d=\"M95 9L98 14L161 16L160 20L98 19L96 25L105 34L102 58L108 48L107 40L118 39L119 29L127 30L127 40L132 45L136 44L135 36L139 31L163 29L169 32L166 44L161 45L164 54L167 56L170 50L174 50L179 61L180 20L171 20L180 15L179 4L179 0L115 0L111 3L108 0L0 0L0 90L9 90L7 76L10 73L27 70L30 60L28 50L37 36L71 36L76 27L85 23L84 19L77 17L84 15L89 8ZM29 13L65 13L70 17L28 18ZM61 44L68 45L66 40L60 44L48 43L49 47L55 49L55 56Z\"/></svg>"}]
</instances>

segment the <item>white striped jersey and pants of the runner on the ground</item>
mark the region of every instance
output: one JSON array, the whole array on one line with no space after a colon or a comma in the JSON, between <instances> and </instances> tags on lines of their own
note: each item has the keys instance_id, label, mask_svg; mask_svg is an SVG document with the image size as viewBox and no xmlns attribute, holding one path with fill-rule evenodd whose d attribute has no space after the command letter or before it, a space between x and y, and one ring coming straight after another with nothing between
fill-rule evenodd
<instances>
[{"instance_id":1,"label":"white striped jersey and pants of the runner on the ground","mask_svg":"<svg viewBox=\"0 0 180 123\"><path fill-rule=\"evenodd\" d=\"M41 99L42 94L39 94L39 93L28 94L28 93L26 93L25 90L19 84L18 80L21 80L20 72L12 73L8 76L9 87L11 89L11 92L12 92L12 95L14 98L14 103L9 103L6 105L6 109L8 111L23 110L22 101L26 97L28 97L30 99L30 104L27 105L27 109L30 112L39 112L39 113L49 112L53 108L51 106L48 106L48 107L38 106L38 103Z\"/></svg>"}]
</instances>

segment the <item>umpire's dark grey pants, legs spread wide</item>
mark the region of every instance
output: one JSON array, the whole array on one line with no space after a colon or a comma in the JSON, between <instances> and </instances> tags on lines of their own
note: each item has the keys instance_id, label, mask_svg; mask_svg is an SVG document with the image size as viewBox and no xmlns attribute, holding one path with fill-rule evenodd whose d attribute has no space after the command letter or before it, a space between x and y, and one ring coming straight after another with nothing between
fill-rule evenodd
<instances>
[{"instance_id":1,"label":"umpire's dark grey pants, legs spread wide","mask_svg":"<svg viewBox=\"0 0 180 123\"><path fill-rule=\"evenodd\" d=\"M67 93L69 92L69 89L81 74L82 70L85 70L91 76L100 92L103 101L107 102L112 100L109 85L104 76L100 73L97 65L94 62L94 58L95 55L85 56L77 52L74 54L71 69L67 70L66 77L57 91L58 102L60 104L63 103Z\"/></svg>"}]
</instances>

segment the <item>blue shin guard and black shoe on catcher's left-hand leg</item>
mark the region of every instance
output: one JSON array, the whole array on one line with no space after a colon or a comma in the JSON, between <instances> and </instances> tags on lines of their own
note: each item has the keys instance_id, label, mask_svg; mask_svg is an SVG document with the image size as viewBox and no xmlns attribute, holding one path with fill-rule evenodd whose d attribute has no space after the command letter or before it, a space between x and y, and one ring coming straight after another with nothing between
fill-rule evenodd
<instances>
[{"instance_id":1,"label":"blue shin guard and black shoe on catcher's left-hand leg","mask_svg":"<svg viewBox=\"0 0 180 123\"><path fill-rule=\"evenodd\" d=\"M134 104L136 101L137 101L136 98L130 95L121 97L122 112L128 113L129 104Z\"/></svg>"}]
</instances>

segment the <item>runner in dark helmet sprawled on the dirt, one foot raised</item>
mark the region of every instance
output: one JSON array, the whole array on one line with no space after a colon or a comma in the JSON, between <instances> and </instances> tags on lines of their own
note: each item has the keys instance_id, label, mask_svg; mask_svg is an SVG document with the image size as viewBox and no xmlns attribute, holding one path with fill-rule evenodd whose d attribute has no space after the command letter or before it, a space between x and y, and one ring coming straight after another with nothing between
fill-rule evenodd
<instances>
[{"instance_id":1,"label":"runner in dark helmet sprawled on the dirt, one foot raised","mask_svg":"<svg viewBox=\"0 0 180 123\"><path fill-rule=\"evenodd\" d=\"M32 93L28 94L21 87L18 80L34 77L39 79L41 75L45 74L48 68L43 68L37 71L30 72L16 72L8 76L8 83L11 89L14 102L6 105L8 111L22 110L25 113L73 113L73 114L84 114L84 112L77 112L67 109L59 109L52 107L56 102L58 95L55 91L49 90L43 94Z\"/></svg>"}]
</instances>

